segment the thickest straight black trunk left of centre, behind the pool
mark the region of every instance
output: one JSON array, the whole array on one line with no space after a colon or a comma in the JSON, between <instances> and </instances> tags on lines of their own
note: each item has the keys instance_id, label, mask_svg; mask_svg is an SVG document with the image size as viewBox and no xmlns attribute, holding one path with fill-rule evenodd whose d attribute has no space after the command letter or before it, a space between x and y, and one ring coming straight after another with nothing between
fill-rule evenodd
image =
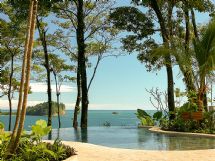
<instances>
[{"instance_id":1,"label":"thickest straight black trunk left of centre, behind the pool","mask_svg":"<svg viewBox=\"0 0 215 161\"><path fill-rule=\"evenodd\" d=\"M86 73L86 56L84 42L84 13L83 0L78 0L77 3L77 44L78 44L78 65L80 65L81 74L81 127L87 128L88 123L88 91L87 91L87 73Z\"/></svg>"}]
</instances>

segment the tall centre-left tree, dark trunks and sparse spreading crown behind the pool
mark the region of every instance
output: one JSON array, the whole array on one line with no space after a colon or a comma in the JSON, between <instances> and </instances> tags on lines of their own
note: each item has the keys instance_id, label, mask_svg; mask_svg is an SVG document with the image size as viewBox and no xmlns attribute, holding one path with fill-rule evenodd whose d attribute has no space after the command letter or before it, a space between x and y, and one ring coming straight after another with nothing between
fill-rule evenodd
<instances>
[{"instance_id":1,"label":"tall centre-left tree, dark trunks and sparse spreading crown behind the pool","mask_svg":"<svg viewBox=\"0 0 215 161\"><path fill-rule=\"evenodd\" d=\"M87 44L95 38L100 29L105 26L106 15L112 3L108 1L66 1L55 6L58 18L64 18L65 22L57 22L63 29L69 30L70 37L76 38L77 46L71 51L63 45L64 50L69 50L70 55L77 60L77 100L74 112L74 126L77 126L77 111L81 100L81 127L87 127L88 117L88 83L87 83Z\"/></svg>"}]
</instances>

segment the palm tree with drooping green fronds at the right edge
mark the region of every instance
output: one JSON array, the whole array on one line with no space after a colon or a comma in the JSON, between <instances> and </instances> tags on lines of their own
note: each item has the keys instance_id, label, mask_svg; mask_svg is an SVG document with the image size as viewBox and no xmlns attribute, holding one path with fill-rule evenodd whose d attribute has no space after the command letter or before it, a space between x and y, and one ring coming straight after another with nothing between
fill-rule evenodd
<instances>
[{"instance_id":1,"label":"palm tree with drooping green fronds at the right edge","mask_svg":"<svg viewBox=\"0 0 215 161\"><path fill-rule=\"evenodd\" d=\"M198 105L203 109L207 91L206 77L215 69L215 20L211 21L199 39L194 40L195 58L199 68Z\"/></svg>"}]
</instances>

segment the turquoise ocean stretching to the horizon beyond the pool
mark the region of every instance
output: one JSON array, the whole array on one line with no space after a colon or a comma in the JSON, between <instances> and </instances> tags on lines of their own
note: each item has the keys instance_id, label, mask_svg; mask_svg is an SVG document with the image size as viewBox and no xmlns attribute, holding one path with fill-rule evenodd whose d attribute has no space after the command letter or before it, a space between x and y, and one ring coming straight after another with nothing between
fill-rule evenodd
<instances>
[{"instance_id":1,"label":"turquoise ocean stretching to the horizon beyond the pool","mask_svg":"<svg viewBox=\"0 0 215 161\"><path fill-rule=\"evenodd\" d=\"M116 112L116 114L113 114ZM88 126L104 126L108 123L110 126L137 126L139 120L135 115L136 110L89 110L88 111ZM149 110L148 113L154 113L154 110ZM14 125L16 116L12 116L12 127ZM25 119L25 130L30 130L31 125L35 124L36 120L43 119L47 120L47 116L26 116ZM0 115L0 122L3 122L5 125L5 130L8 129L8 115ZM78 116L79 125L80 125L80 114ZM72 127L73 121L73 110L67 110L66 114L61 116L61 127L69 128ZM52 128L58 128L58 117L52 117Z\"/></svg>"}]
</instances>

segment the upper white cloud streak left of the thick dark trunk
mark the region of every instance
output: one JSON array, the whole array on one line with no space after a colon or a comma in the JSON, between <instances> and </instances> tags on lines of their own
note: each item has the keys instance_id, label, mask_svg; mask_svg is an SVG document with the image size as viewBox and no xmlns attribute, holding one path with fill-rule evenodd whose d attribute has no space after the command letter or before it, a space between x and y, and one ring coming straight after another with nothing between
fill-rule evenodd
<instances>
[{"instance_id":1,"label":"upper white cloud streak left of the thick dark trunk","mask_svg":"<svg viewBox=\"0 0 215 161\"><path fill-rule=\"evenodd\" d=\"M47 84L46 83L30 83L31 86L31 91L33 93L38 93L38 92L47 92ZM56 92L55 84L51 85L52 92ZM68 92L75 92L75 88L69 85L61 85L60 88L61 93L68 93Z\"/></svg>"}]
</instances>

